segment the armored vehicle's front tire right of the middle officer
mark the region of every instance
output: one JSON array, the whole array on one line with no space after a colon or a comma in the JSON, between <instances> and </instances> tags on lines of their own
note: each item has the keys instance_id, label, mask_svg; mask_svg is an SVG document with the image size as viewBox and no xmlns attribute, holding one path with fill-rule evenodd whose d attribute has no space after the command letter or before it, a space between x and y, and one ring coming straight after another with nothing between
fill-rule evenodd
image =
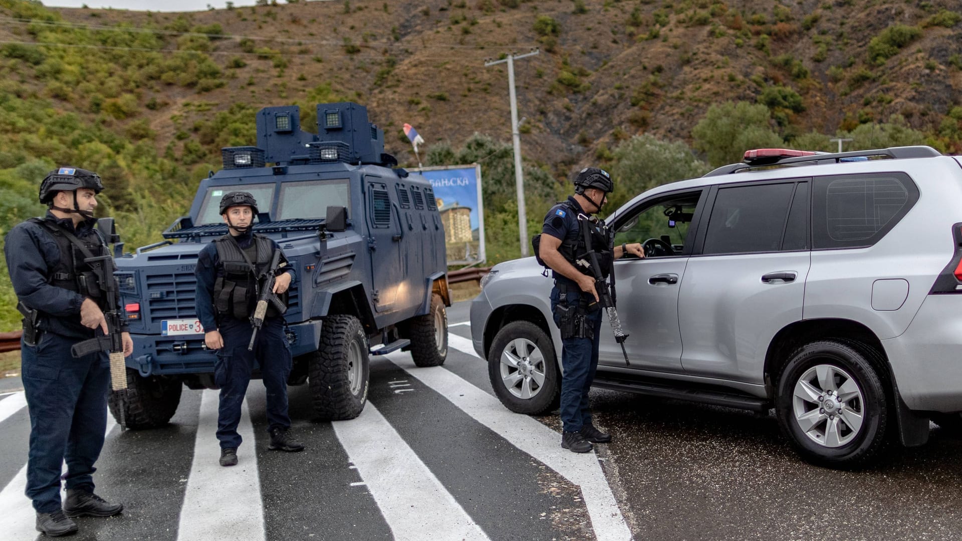
<instances>
[{"instance_id":1,"label":"armored vehicle's front tire right of the middle officer","mask_svg":"<svg viewBox=\"0 0 962 541\"><path fill-rule=\"evenodd\" d=\"M320 331L320 347L308 353L314 411L325 421L354 419L367 402L370 367L367 335L354 316L328 316Z\"/></svg>"}]
</instances>

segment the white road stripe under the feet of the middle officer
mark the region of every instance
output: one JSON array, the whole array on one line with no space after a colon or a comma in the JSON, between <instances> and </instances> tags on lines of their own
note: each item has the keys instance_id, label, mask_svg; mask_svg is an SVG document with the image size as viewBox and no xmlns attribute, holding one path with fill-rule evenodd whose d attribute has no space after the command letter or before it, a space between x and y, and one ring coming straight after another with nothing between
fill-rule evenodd
<instances>
[{"instance_id":1,"label":"white road stripe under the feet of the middle officer","mask_svg":"<svg viewBox=\"0 0 962 541\"><path fill-rule=\"evenodd\" d=\"M241 450L245 452L238 455L237 466L225 468L217 463L220 458L216 436L217 394L218 391L207 389L201 396L193 463L177 539L264 541L264 504L247 399L241 403L241 424L238 425L238 433L246 444Z\"/></svg>"}]
</instances>

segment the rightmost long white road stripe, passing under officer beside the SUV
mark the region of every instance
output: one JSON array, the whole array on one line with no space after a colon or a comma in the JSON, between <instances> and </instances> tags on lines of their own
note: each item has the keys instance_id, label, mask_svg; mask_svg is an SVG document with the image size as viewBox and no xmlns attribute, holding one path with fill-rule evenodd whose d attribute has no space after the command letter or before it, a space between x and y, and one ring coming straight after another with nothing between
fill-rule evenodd
<instances>
[{"instance_id":1,"label":"rightmost long white road stripe, passing under officer beside the SUV","mask_svg":"<svg viewBox=\"0 0 962 541\"><path fill-rule=\"evenodd\" d=\"M451 348L477 357L467 338L451 334L447 338ZM562 449L560 434L527 415L509 411L498 399L443 367L418 368L408 353L394 352L386 357L475 421L488 426L519 450L578 485L598 541L631 539L631 531L621 516L618 502L594 452L575 453Z\"/></svg>"}]
</instances>

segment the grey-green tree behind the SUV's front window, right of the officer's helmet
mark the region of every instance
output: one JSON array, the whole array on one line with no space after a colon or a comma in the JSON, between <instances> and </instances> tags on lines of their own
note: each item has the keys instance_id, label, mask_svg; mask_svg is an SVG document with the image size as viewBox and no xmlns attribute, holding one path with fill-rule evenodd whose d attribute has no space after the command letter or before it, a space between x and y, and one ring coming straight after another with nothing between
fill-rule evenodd
<instances>
[{"instance_id":1,"label":"grey-green tree behind the SUV's front window, right of the officer's helmet","mask_svg":"<svg viewBox=\"0 0 962 541\"><path fill-rule=\"evenodd\" d=\"M621 142L614 156L611 173L615 192L608 197L608 212L646 190L695 178L710 169L684 142L663 141L647 134Z\"/></svg>"}]
</instances>

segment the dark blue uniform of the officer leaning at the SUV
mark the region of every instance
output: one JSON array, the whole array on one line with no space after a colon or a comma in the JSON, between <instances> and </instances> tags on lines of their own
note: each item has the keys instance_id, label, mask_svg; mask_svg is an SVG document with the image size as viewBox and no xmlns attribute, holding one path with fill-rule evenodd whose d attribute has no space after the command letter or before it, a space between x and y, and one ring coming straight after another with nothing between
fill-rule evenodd
<instances>
[{"instance_id":1,"label":"dark blue uniform of the officer leaning at the SUV","mask_svg":"<svg viewBox=\"0 0 962 541\"><path fill-rule=\"evenodd\" d=\"M565 255L567 245L576 245L580 234L578 213L584 212L573 197L568 201L551 207L544 217L542 233L561 239L559 251ZM572 261L569 261L572 263ZM555 279L551 290L551 312L554 322L561 327L559 305L572 310L584 309L595 302L595 296L584 293L578 284L552 270ZM564 374L561 378L561 421L566 432L577 432L583 425L592 423L588 406L588 391L595 380L598 366L598 341L601 332L601 310L586 310L586 326L594 329L594 338L562 337L561 364Z\"/></svg>"}]
</instances>

